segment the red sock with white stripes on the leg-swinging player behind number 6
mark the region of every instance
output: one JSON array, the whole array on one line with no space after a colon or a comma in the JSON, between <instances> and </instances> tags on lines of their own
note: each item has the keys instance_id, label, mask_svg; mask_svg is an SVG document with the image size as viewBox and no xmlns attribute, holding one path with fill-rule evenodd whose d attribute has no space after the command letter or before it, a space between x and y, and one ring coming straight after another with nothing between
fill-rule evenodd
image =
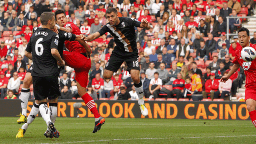
<instances>
[{"instance_id":1,"label":"red sock with white stripes on the leg-swinging player behind number 6","mask_svg":"<svg viewBox=\"0 0 256 144\"><path fill-rule=\"evenodd\" d=\"M95 106L94 100L92 97L86 93L82 96L82 99L84 100L84 103L86 104L87 108L93 113L94 118L99 118L100 114Z\"/></svg>"}]
</instances>

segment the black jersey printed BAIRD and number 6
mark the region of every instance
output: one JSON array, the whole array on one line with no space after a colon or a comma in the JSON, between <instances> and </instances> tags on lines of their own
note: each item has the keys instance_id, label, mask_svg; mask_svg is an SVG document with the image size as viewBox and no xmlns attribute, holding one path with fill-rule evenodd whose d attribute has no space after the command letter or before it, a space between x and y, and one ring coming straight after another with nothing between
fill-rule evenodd
<instances>
[{"instance_id":1,"label":"black jersey printed BAIRD and number 6","mask_svg":"<svg viewBox=\"0 0 256 144\"><path fill-rule=\"evenodd\" d=\"M26 51L32 52L32 76L58 75L57 60L52 56L51 49L58 50L59 36L48 28L37 30L28 42Z\"/></svg>"}]
</instances>

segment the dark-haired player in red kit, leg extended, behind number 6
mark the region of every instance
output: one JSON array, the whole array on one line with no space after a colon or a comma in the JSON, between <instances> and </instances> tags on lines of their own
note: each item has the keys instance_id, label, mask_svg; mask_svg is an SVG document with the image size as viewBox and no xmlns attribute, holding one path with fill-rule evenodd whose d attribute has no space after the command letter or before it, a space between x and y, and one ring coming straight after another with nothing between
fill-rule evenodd
<instances>
[{"instance_id":1,"label":"dark-haired player in red kit, leg extended, behind number 6","mask_svg":"<svg viewBox=\"0 0 256 144\"><path fill-rule=\"evenodd\" d=\"M71 32L72 34L76 34L76 35L82 34L80 32L80 29L73 22L67 22L67 18L63 10L55 11L55 19L56 19L56 23L59 26L64 27L64 28L61 28L60 30ZM91 68L91 60L89 58L91 48L88 45L87 47L83 47L77 41L76 42L65 41L65 46L69 50L69 52L65 50L63 51L63 60L65 61L67 66L74 68L76 72L75 79L77 81L78 94L84 100L89 110L94 114L95 127L92 132L93 133L98 132L102 124L104 124L105 119L100 116L96 108L96 105L94 103L94 100L86 92L88 72Z\"/></svg>"}]
</instances>

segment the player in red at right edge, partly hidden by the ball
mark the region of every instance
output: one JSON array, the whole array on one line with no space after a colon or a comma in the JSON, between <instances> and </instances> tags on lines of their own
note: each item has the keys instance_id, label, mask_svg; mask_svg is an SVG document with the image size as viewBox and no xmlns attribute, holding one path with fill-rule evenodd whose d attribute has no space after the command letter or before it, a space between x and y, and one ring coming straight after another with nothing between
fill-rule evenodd
<instances>
[{"instance_id":1,"label":"player in red at right edge, partly hidden by the ball","mask_svg":"<svg viewBox=\"0 0 256 144\"><path fill-rule=\"evenodd\" d=\"M220 79L221 82L226 82L234 72L242 66L244 68L244 74L246 75L245 81L245 103L247 106L247 110L249 111L250 118L252 120L252 124L256 127L256 60L252 60L251 62L246 62L241 57L241 50L250 46L256 49L255 44L250 44L250 32L247 28L240 28L238 30L238 40L241 46L236 49L236 57L233 60L234 65L231 70L228 72L226 76L222 76Z\"/></svg>"}]
</instances>

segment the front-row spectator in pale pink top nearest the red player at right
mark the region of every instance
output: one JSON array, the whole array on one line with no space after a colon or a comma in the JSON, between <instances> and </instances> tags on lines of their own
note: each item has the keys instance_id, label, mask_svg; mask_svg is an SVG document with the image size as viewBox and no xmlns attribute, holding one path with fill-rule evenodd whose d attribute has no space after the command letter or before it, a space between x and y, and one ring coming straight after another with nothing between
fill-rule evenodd
<instances>
[{"instance_id":1,"label":"front-row spectator in pale pink top nearest the red player at right","mask_svg":"<svg viewBox=\"0 0 256 144\"><path fill-rule=\"evenodd\" d=\"M224 72L224 76L227 75L228 72ZM232 80L229 78L225 83L220 82L219 90L214 92L214 98L225 98L230 95L230 90L232 87Z\"/></svg>"}]
</instances>

